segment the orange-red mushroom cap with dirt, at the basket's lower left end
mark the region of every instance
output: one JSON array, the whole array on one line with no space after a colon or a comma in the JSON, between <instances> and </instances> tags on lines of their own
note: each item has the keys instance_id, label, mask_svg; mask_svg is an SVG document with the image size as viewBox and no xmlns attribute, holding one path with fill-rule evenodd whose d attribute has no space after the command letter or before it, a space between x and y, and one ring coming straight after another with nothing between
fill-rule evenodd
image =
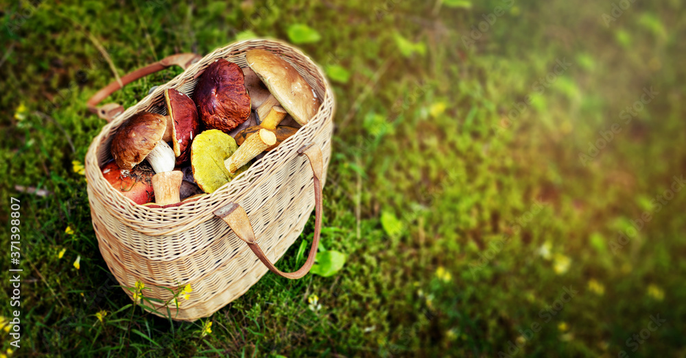
<instances>
[{"instance_id":1,"label":"orange-red mushroom cap with dirt, at the basket's lower left end","mask_svg":"<svg viewBox=\"0 0 686 358\"><path fill-rule=\"evenodd\" d=\"M154 170L145 163L137 166L134 170L119 168L114 160L102 167L102 177L123 196L131 199L138 205L150 203L155 198L152 188Z\"/></svg>"}]
</instances>

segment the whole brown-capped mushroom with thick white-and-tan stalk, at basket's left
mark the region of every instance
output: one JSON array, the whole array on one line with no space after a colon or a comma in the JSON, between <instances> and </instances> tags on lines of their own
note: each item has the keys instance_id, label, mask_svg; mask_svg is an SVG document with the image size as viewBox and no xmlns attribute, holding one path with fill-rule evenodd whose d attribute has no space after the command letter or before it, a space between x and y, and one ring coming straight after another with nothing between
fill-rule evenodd
<instances>
[{"instance_id":1,"label":"whole brown-capped mushroom with thick white-and-tan stalk, at basket's left","mask_svg":"<svg viewBox=\"0 0 686 358\"><path fill-rule=\"evenodd\" d=\"M150 112L134 114L117 130L110 152L119 168L131 170L147 159L157 173L152 177L156 203L179 201L182 173L174 174L174 149L162 138L167 128L165 116Z\"/></svg>"}]
</instances>

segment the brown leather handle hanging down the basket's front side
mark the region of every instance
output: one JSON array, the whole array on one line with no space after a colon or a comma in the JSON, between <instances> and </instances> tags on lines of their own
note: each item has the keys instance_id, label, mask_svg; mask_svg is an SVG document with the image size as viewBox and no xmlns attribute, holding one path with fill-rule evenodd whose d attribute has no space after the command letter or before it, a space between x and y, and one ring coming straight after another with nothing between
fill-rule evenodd
<instances>
[{"instance_id":1,"label":"brown leather handle hanging down the basket's front side","mask_svg":"<svg viewBox=\"0 0 686 358\"><path fill-rule=\"evenodd\" d=\"M317 249L319 248L319 235L322 229L322 151L319 146L315 144L306 144L302 148L298 149L298 155L307 155L309 159L309 164L312 167L312 172L314 172L314 202L315 202L315 224L314 224L314 239L312 240L312 247L309 249L309 255L307 256L307 261L303 264L303 267L299 268L295 272L282 272L272 264L267 256L263 253L262 249L255 241L255 231L252 230L252 225L250 225L250 219L248 214L246 214L245 209L238 205L237 203L229 203L228 205L217 209L214 212L216 216L224 219L228 226L233 230L233 232L238 235L238 237L245 241L250 247L257 258L262 261L270 271L278 274L281 277L287 279L300 279L300 277L305 276L309 269L312 268L314 264L314 258L317 255Z\"/></svg>"}]
</instances>

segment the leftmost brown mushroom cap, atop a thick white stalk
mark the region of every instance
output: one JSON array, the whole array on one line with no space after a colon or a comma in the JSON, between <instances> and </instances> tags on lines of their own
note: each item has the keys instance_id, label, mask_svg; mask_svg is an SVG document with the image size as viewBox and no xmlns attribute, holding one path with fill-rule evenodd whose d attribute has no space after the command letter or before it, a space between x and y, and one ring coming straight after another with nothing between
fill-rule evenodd
<instances>
[{"instance_id":1,"label":"leftmost brown mushroom cap, atop a thick white stalk","mask_svg":"<svg viewBox=\"0 0 686 358\"><path fill-rule=\"evenodd\" d=\"M161 114L140 112L129 118L119 127L110 146L119 168L131 170L143 162L164 136L166 127L167 119Z\"/></svg>"}]
</instances>

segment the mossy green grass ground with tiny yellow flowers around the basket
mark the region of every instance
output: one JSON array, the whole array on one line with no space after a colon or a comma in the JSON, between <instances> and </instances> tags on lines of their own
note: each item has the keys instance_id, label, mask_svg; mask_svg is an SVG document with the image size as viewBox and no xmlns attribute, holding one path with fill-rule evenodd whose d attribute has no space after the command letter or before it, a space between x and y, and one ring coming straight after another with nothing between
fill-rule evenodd
<instances>
[{"instance_id":1,"label":"mossy green grass ground with tiny yellow flowers around the basket","mask_svg":"<svg viewBox=\"0 0 686 358\"><path fill-rule=\"evenodd\" d=\"M10 196L24 269L22 345L7 327L3 354L686 357L681 1L0 3L3 287ZM86 100L114 72L255 36L333 84L322 245L342 270L268 273L193 323L99 295L82 163L104 120Z\"/></svg>"}]
</instances>

